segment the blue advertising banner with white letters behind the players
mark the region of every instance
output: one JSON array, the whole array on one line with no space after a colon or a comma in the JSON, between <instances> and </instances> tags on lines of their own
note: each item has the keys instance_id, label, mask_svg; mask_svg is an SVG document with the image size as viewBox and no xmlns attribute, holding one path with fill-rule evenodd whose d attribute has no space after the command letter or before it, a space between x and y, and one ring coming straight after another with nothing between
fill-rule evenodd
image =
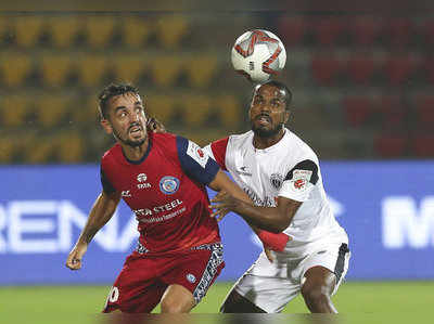
<instances>
[{"instance_id":1,"label":"blue advertising banner with white letters behind the players","mask_svg":"<svg viewBox=\"0 0 434 324\"><path fill-rule=\"evenodd\" d=\"M348 280L434 278L434 161L322 163L321 170L349 236ZM138 237L123 203L82 269L64 265L101 191L98 166L1 167L0 179L0 285L114 282ZM239 216L228 215L220 232L226 268L218 280L233 281L261 246Z\"/></svg>"}]
</instances>

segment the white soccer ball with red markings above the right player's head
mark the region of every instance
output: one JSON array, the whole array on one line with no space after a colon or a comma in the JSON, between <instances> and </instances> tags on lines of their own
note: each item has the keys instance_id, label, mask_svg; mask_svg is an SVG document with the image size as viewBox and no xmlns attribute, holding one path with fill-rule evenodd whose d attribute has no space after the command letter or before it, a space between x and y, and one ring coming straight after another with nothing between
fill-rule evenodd
<instances>
[{"instance_id":1,"label":"white soccer ball with red markings above the right player's head","mask_svg":"<svg viewBox=\"0 0 434 324\"><path fill-rule=\"evenodd\" d=\"M264 83L283 69L286 51L271 31L253 29L237 38L231 60L238 73L253 82Z\"/></svg>"}]
</instances>

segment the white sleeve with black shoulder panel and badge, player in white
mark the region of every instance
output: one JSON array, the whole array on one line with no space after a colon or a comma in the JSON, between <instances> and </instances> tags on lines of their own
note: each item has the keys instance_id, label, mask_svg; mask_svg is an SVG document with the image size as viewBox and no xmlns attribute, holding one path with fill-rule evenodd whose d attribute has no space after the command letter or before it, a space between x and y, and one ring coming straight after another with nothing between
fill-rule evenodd
<instances>
[{"instance_id":1,"label":"white sleeve with black shoulder panel and badge, player in white","mask_svg":"<svg viewBox=\"0 0 434 324\"><path fill-rule=\"evenodd\" d=\"M310 159L297 164L283 180L279 196L306 202L318 182L318 166Z\"/></svg>"}]
</instances>

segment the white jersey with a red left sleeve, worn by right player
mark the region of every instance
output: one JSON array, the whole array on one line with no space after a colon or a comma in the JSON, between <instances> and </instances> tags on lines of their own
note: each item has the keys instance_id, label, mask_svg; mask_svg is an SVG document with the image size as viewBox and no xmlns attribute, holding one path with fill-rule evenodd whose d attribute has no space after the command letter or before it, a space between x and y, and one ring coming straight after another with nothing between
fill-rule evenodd
<instances>
[{"instance_id":1,"label":"white jersey with a red left sleeve, worn by right player","mask_svg":"<svg viewBox=\"0 0 434 324\"><path fill-rule=\"evenodd\" d=\"M208 154L248 194L257 206L276 207L282 196L303 202L291 224L285 252L296 247L327 242L347 243L345 231L336 222L322 185L319 161L314 151L285 128L275 145L257 150L253 131L210 143Z\"/></svg>"}]
</instances>

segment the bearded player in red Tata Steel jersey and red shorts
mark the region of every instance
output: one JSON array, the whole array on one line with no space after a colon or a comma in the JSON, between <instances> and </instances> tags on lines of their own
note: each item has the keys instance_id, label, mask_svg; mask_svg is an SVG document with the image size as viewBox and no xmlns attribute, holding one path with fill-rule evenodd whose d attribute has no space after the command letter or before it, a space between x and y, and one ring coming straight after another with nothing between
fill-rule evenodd
<instances>
[{"instance_id":1,"label":"bearded player in red Tata Steel jersey and red shorts","mask_svg":"<svg viewBox=\"0 0 434 324\"><path fill-rule=\"evenodd\" d=\"M225 267L205 185L250 199L195 143L150 131L145 105L132 86L106 87L99 107L102 127L117 143L102 157L102 192L66 267L81 268L89 243L123 198L138 220L139 244L103 311L151 312L159 303L165 313L189 312Z\"/></svg>"}]
</instances>

